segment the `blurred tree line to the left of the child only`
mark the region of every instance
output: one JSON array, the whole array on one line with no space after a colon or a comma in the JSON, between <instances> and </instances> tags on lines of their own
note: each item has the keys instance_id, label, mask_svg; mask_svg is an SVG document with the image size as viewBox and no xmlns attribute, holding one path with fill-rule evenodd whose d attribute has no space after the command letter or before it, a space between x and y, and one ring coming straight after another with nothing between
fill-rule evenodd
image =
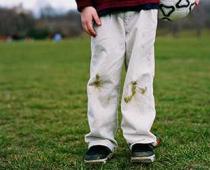
<instances>
[{"instance_id":1,"label":"blurred tree line to the left of the child only","mask_svg":"<svg viewBox=\"0 0 210 170\"><path fill-rule=\"evenodd\" d=\"M79 13L70 10L58 14L47 6L36 18L22 7L0 8L0 39L47 39L56 34L62 37L78 36L82 33Z\"/></svg>"}]
</instances>

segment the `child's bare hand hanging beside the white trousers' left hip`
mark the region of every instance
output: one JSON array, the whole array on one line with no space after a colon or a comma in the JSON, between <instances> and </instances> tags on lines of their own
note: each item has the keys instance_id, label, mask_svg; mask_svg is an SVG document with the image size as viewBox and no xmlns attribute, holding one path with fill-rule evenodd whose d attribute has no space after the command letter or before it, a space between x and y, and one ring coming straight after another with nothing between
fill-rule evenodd
<instances>
[{"instance_id":1,"label":"child's bare hand hanging beside the white trousers' left hip","mask_svg":"<svg viewBox=\"0 0 210 170\"><path fill-rule=\"evenodd\" d=\"M96 31L93 28L93 22L98 26L101 25L100 18L97 14L97 11L93 7L86 7L81 12L81 20L83 29L90 35L95 37Z\"/></svg>"}]
</instances>

